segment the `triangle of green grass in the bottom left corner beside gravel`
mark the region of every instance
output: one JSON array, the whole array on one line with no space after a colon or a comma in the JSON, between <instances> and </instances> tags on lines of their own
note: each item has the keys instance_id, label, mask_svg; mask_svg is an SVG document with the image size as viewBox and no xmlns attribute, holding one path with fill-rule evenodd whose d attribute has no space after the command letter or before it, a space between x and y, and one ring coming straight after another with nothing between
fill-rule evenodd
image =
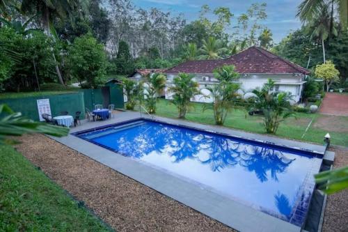
<instances>
[{"instance_id":1,"label":"triangle of green grass in the bottom left corner beside gravel","mask_svg":"<svg viewBox=\"0 0 348 232\"><path fill-rule=\"evenodd\" d=\"M110 231L10 146L0 146L0 231Z\"/></svg>"}]
</instances>

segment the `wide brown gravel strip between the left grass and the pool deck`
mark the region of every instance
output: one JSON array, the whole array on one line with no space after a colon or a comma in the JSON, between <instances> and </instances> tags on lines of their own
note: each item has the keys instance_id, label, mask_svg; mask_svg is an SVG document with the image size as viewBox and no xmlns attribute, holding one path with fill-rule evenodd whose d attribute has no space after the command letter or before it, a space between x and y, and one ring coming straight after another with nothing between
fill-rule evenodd
<instances>
[{"instance_id":1,"label":"wide brown gravel strip between the left grass and the pool deck","mask_svg":"<svg viewBox=\"0 0 348 232\"><path fill-rule=\"evenodd\" d=\"M117 231L232 231L48 137L19 140L19 152Z\"/></svg>"}]
</instances>

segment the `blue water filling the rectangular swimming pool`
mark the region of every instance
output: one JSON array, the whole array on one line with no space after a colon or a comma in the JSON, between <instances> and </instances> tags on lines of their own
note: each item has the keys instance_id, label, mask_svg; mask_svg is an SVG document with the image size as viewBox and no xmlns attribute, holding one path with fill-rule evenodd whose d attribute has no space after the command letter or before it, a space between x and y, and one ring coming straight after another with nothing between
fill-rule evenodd
<instances>
[{"instance_id":1,"label":"blue water filling the rectangular swimming pool","mask_svg":"<svg viewBox=\"0 0 348 232\"><path fill-rule=\"evenodd\" d=\"M154 121L77 136L298 226L322 163L314 154Z\"/></svg>"}]
</instances>

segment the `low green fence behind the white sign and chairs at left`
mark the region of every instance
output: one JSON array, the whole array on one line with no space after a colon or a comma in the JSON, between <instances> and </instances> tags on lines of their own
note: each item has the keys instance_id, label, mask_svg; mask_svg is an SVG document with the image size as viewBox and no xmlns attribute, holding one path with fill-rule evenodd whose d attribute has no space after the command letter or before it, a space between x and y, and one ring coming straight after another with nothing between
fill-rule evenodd
<instances>
[{"instance_id":1,"label":"low green fence behind the white sign and chairs at left","mask_svg":"<svg viewBox=\"0 0 348 232\"><path fill-rule=\"evenodd\" d=\"M42 95L40 98L29 97L1 99L0 104L7 104L13 109L13 111L22 112L24 116L38 121L39 114L36 100L45 98L49 99L52 116L58 116L61 111L68 111L70 115L74 116L76 111L81 111L81 118L84 118L85 104L83 92Z\"/></svg>"}]
</instances>

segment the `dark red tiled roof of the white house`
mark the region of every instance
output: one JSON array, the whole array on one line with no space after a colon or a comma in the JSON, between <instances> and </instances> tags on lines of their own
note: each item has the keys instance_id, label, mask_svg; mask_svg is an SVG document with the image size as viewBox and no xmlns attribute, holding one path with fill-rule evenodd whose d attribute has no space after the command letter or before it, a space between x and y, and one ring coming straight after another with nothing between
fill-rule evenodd
<instances>
[{"instance_id":1,"label":"dark red tiled roof of the white house","mask_svg":"<svg viewBox=\"0 0 348 232\"><path fill-rule=\"evenodd\" d=\"M237 72L262 74L309 74L306 68L287 61L260 47L249 47L238 54L221 60L187 61L166 70L166 73L212 73L214 68L221 65L235 65Z\"/></svg>"}]
</instances>

